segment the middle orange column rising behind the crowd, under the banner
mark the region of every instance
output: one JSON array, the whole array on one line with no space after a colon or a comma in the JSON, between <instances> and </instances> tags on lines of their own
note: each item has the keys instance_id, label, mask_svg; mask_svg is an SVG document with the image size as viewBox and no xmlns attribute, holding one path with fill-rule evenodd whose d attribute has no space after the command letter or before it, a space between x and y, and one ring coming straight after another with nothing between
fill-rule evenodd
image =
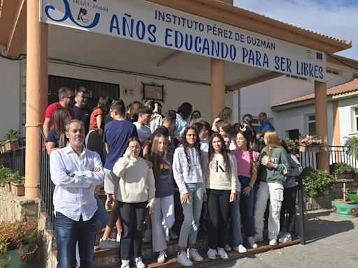
<instances>
[{"instance_id":1,"label":"middle orange column rising behind the crowd, under the banner","mask_svg":"<svg viewBox=\"0 0 358 268\"><path fill-rule=\"evenodd\" d=\"M211 59L211 120L213 121L225 106L225 61Z\"/></svg>"}]
</instances>

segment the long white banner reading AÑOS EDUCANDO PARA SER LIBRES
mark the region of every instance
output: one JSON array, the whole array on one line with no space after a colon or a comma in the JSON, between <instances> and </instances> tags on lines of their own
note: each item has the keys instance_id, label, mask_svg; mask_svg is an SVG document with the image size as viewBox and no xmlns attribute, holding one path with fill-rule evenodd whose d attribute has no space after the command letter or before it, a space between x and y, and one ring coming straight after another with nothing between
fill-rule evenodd
<instances>
[{"instance_id":1,"label":"long white banner reading A\u00d1OS EDUCANDO PARA SER LIBRES","mask_svg":"<svg viewBox=\"0 0 358 268\"><path fill-rule=\"evenodd\" d=\"M326 54L143 0L42 0L41 22L326 81Z\"/></svg>"}]
</instances>

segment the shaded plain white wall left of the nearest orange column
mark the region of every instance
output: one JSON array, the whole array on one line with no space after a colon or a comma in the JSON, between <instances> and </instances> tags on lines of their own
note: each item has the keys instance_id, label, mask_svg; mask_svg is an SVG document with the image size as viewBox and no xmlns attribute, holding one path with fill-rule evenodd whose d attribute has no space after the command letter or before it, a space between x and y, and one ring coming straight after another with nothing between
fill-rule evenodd
<instances>
[{"instance_id":1,"label":"shaded plain white wall left of the nearest orange column","mask_svg":"<svg viewBox=\"0 0 358 268\"><path fill-rule=\"evenodd\" d=\"M10 129L20 128L20 61L0 57L0 140ZM21 133L24 135L25 133Z\"/></svg>"}]
</instances>

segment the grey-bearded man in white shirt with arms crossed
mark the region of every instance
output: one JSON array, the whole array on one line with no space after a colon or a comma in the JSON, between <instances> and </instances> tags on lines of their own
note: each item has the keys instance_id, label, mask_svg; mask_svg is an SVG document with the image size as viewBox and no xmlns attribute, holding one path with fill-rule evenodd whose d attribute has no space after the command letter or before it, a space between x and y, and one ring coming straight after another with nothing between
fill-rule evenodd
<instances>
[{"instance_id":1,"label":"grey-bearded man in white shirt with arms crossed","mask_svg":"<svg viewBox=\"0 0 358 268\"><path fill-rule=\"evenodd\" d=\"M50 154L57 268L75 267L76 242L80 250L81 267L96 267L93 262L96 237L97 204L95 186L104 179L99 154L83 146L85 126L71 120L66 125L69 145Z\"/></svg>"}]
</instances>

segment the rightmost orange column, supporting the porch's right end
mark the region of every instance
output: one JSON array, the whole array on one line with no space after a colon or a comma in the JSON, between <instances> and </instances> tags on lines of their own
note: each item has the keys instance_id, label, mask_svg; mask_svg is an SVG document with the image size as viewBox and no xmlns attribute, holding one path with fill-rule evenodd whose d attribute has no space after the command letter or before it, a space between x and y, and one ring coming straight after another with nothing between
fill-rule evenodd
<instances>
[{"instance_id":1,"label":"rightmost orange column, supporting the porch's right end","mask_svg":"<svg viewBox=\"0 0 358 268\"><path fill-rule=\"evenodd\" d=\"M328 144L327 88L326 83L315 81L316 133ZM317 168L329 172L329 152L324 148L317 154Z\"/></svg>"}]
</instances>

